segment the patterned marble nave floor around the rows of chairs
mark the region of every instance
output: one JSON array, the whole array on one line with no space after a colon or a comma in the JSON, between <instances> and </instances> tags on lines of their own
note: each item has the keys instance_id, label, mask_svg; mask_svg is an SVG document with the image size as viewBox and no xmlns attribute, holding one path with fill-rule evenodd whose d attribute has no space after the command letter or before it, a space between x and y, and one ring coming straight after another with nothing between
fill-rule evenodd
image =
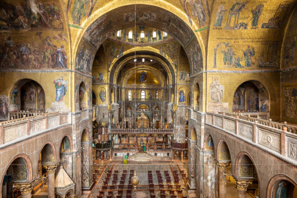
<instances>
[{"instance_id":1,"label":"patterned marble nave floor around the rows of chairs","mask_svg":"<svg viewBox=\"0 0 297 198\"><path fill-rule=\"evenodd\" d=\"M173 171L176 171L178 173L179 177L179 183L178 185L181 186L182 194L178 194L177 191L174 192L174 195L177 198L185 197L186 191L185 191L185 182L186 182L186 164L182 162L144 162L144 163L132 163L132 164L123 164L119 161L106 161L106 162L94 162L96 163L93 168L93 173L98 176L95 186L93 187L90 194L84 194L82 195L82 198L97 198L100 191L104 192L104 195L102 195L102 198L107 198L107 196L112 196L112 198L116 198L118 195L118 185L120 181L120 177L124 170L127 170L125 182L123 185L123 193L121 198L126 198L126 193L128 190L128 183L129 183L129 175L130 170L136 171L136 175L138 176L140 182L136 189L136 197L141 198L149 198L150 192L149 192L149 185L148 185L148 170L152 171L152 181L154 184L154 195L156 198L161 198L160 195L160 188L159 183L156 175L156 170L160 170L160 173L162 175L163 184L164 184L164 191L165 191L165 198L170 198L172 195L169 194L169 189L167 187L166 183L166 177L164 174L164 171L168 171L169 176L171 178L171 184L173 185L173 189L176 189L176 184L174 184L174 178L173 178ZM112 171L112 176L107 184L107 189L102 189L103 182L107 176L108 170ZM110 189L110 186L112 185L113 180L113 174L115 173L115 170L118 171L118 179L115 185L115 189ZM181 172L183 171L183 175L181 175ZM108 195L108 192L109 195ZM112 193L111 193L112 192Z\"/></svg>"}]
</instances>

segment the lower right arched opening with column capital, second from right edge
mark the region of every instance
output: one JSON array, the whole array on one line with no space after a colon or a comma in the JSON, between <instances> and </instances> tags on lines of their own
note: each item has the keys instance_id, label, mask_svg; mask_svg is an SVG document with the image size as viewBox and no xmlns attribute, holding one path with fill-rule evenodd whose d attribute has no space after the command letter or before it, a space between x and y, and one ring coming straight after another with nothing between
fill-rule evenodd
<instances>
[{"instance_id":1,"label":"lower right arched opening with column capital, second from right edge","mask_svg":"<svg viewBox=\"0 0 297 198\"><path fill-rule=\"evenodd\" d=\"M259 181L258 174L251 158L242 152L236 160L236 186L237 194L246 196L249 195L259 197Z\"/></svg>"}]
</instances>

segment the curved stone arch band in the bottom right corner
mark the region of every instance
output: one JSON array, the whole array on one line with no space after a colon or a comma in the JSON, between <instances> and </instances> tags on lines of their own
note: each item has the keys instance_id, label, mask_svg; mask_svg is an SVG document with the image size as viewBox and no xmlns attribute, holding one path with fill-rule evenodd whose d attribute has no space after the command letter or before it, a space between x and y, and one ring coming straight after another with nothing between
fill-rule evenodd
<instances>
[{"instance_id":1,"label":"curved stone arch band in the bottom right corner","mask_svg":"<svg viewBox=\"0 0 297 198\"><path fill-rule=\"evenodd\" d=\"M279 174L279 175L275 175L273 176L267 186L267 195L266 198L272 198L273 196L275 196L276 194L276 190L279 186L279 184L283 181L289 182L289 184L292 184L292 186L290 188L297 188L297 182L294 181L293 179L291 179L290 177L283 175L283 174ZM292 189L291 189L292 191ZM289 189L290 192L290 189ZM274 198L274 197L273 197ZM280 197L275 197L275 198L280 198Z\"/></svg>"}]
</instances>

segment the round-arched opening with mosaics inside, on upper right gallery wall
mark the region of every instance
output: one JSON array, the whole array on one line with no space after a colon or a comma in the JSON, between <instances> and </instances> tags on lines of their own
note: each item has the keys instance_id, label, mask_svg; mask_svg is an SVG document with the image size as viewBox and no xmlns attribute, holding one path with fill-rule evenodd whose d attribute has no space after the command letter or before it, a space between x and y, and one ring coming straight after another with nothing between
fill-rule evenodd
<instances>
[{"instance_id":1,"label":"round-arched opening with mosaics inside, on upper right gallery wall","mask_svg":"<svg viewBox=\"0 0 297 198\"><path fill-rule=\"evenodd\" d=\"M233 96L233 112L258 112L269 119L269 93L261 82L247 81L238 86ZM248 113L250 116L261 115Z\"/></svg>"}]
</instances>

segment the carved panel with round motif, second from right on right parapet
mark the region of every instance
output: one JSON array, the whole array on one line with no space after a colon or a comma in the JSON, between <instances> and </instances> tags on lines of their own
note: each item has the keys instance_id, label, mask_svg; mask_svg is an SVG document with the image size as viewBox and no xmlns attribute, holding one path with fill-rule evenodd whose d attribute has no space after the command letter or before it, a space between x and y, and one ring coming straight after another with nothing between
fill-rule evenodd
<instances>
[{"instance_id":1,"label":"carved panel with round motif, second from right on right parapet","mask_svg":"<svg viewBox=\"0 0 297 198\"><path fill-rule=\"evenodd\" d=\"M281 134L259 129L259 144L272 150L281 152Z\"/></svg>"}]
</instances>

